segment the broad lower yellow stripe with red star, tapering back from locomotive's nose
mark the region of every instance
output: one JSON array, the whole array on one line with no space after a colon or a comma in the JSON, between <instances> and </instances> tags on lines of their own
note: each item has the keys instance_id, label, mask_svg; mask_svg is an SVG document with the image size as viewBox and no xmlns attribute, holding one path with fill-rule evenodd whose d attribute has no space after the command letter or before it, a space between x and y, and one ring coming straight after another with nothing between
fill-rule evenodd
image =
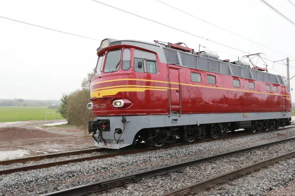
<instances>
[{"instance_id":1,"label":"broad lower yellow stripe with red star, tapering back from locomotive's nose","mask_svg":"<svg viewBox=\"0 0 295 196\"><path fill-rule=\"evenodd\" d=\"M94 91L91 93L91 98L101 98L103 96L112 96L112 95L116 95L119 92L144 92L146 90L167 91L167 89L151 89L151 88L115 88L115 89Z\"/></svg>"}]
</instances>

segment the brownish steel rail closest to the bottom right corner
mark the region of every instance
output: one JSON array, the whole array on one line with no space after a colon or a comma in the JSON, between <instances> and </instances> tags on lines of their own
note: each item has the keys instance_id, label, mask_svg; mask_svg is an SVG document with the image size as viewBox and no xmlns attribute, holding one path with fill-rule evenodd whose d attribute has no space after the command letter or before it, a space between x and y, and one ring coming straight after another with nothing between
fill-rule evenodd
<instances>
[{"instance_id":1,"label":"brownish steel rail closest to the bottom right corner","mask_svg":"<svg viewBox=\"0 0 295 196\"><path fill-rule=\"evenodd\" d=\"M237 177L246 175L250 172L255 172L256 170L259 170L263 167L272 165L274 163L277 163L279 161L282 161L284 159L288 159L291 157L295 156L295 151L292 152L288 152L286 154L280 155L280 156L276 156L270 159L267 159L265 161L261 161L237 170L234 170L232 172L226 172L223 173L221 175L217 175L214 177L211 177L209 179L206 179L204 181L177 189L176 191L164 194L162 196L186 196L189 195L191 193L197 193L197 192L201 192L207 188L211 188L216 186L217 184L221 184L221 183L225 183L227 182L229 179L235 179Z\"/></svg>"}]
</instances>

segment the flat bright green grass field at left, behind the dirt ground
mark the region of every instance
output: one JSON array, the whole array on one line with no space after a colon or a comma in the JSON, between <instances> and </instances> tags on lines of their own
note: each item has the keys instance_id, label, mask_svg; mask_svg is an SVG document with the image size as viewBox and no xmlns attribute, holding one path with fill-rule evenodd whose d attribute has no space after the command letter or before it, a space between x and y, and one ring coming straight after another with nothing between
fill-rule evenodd
<instances>
[{"instance_id":1,"label":"flat bright green grass field at left, behind the dirt ground","mask_svg":"<svg viewBox=\"0 0 295 196\"><path fill-rule=\"evenodd\" d=\"M45 112L56 112L57 109L47 107L0 107L0 122L45 120ZM59 113L55 119L63 119ZM54 120L54 114L47 114L47 120Z\"/></svg>"}]
</instances>

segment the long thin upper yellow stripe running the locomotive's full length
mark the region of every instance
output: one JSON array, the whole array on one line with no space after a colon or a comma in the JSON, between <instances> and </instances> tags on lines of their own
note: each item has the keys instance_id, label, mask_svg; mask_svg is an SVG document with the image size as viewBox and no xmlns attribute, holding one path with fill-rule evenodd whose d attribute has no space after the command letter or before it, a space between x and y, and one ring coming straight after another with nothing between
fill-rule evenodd
<instances>
[{"instance_id":1,"label":"long thin upper yellow stripe running the locomotive's full length","mask_svg":"<svg viewBox=\"0 0 295 196\"><path fill-rule=\"evenodd\" d=\"M122 78L122 79L114 79L114 80L106 80L106 81L101 81L101 82L96 82L91 84L95 85L95 84L101 84L101 83L105 83L105 82L114 82L114 81L122 81L122 80L132 80L132 81L146 81L146 82L159 82L159 83L169 83L167 81L160 81L160 80L148 80L148 79L136 79L136 78ZM178 84L178 82L170 82L171 84ZM249 92L249 93L260 93L260 94L266 94L266 95L277 95L277 96L289 96L291 97L291 95L283 95L283 94L274 94L274 93L265 93L265 92L258 92L258 91L248 91L248 90L239 90L239 89L229 89L229 88L221 88L221 87L214 87L214 86L203 86L203 85L196 85L196 84L185 84L185 83L181 83L181 85L185 85L185 86L196 86L196 87L203 87L203 88L211 88L211 89L222 89L222 90L230 90L230 91L240 91L240 92ZM126 85L128 86L128 85ZM130 85L132 86L132 85ZM135 86L135 85L134 85ZM151 86L152 87L152 86ZM109 88L109 87L105 87L105 88ZM96 90L96 89L95 89Z\"/></svg>"}]
</instances>

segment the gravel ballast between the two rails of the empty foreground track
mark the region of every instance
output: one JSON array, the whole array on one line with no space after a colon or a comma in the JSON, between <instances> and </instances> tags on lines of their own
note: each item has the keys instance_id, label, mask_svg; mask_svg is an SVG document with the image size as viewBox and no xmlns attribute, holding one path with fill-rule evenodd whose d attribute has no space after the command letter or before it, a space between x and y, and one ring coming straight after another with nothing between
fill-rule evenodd
<instances>
[{"instance_id":1,"label":"gravel ballast between the two rails of the empty foreground track","mask_svg":"<svg viewBox=\"0 0 295 196\"><path fill-rule=\"evenodd\" d=\"M184 186L188 186L207 178L219 175L221 173L230 172L247 165L257 163L268 158L281 155L295 150L294 142L288 142L284 144L274 145L272 147L265 147L262 149L253 150L250 152L244 152L231 157L222 158L220 160L198 164L197 166L188 167L178 172L171 172L165 175L156 176L148 179L144 179L137 183L128 184L127 188L118 187L109 191L97 193L97 196L116 196L116 195L127 195L127 196L150 196L150 195L162 195L175 191ZM295 166L294 166L295 167ZM284 175L284 174L283 174ZM286 178L289 181L294 179L293 176L288 174ZM242 182L241 182L242 183ZM250 183L250 182L247 182ZM247 183L245 183L245 190L247 190ZM206 196L218 196L214 192L203 192ZM241 193L241 192L239 192ZM203 196L203 195L198 196ZM245 196L237 194L238 196ZM225 196L219 195L219 196ZM229 196L229 195L228 195ZM233 196L233 195L232 195ZM255 196L255 195L254 195Z\"/></svg>"}]
</instances>

